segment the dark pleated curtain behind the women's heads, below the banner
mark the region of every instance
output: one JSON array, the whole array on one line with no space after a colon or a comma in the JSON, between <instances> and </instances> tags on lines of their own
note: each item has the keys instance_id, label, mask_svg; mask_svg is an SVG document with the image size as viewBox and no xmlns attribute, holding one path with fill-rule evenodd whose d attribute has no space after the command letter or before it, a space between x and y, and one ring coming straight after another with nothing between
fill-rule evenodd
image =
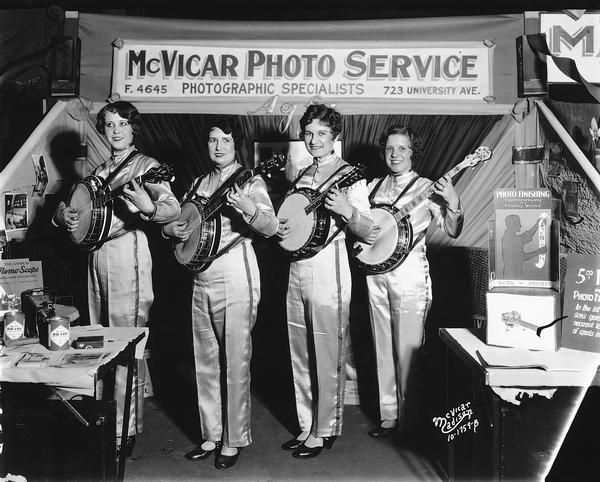
<instances>
[{"instance_id":1,"label":"dark pleated curtain behind the women's heads, below the banner","mask_svg":"<svg viewBox=\"0 0 600 482\"><path fill-rule=\"evenodd\" d=\"M462 161L485 138L501 116L458 115L351 115L344 117L343 157L351 164L367 166L367 178L380 176L385 166L378 150L379 136L389 126L410 126L423 141L423 162L417 172L438 179ZM298 119L281 133L281 116L239 116L245 142L238 149L243 164L254 164L254 142L297 139ZM176 179L173 189L179 196L192 180L210 169L204 131L210 115L144 114L143 128L136 139L138 148L161 162L172 164Z\"/></svg>"}]
</instances>

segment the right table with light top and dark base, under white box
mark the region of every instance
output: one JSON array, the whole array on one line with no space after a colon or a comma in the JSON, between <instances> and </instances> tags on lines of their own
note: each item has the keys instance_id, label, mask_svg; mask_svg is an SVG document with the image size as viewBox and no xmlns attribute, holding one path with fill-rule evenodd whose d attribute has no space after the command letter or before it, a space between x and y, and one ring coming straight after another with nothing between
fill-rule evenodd
<instances>
[{"instance_id":1,"label":"right table with light top and dark base, under white box","mask_svg":"<svg viewBox=\"0 0 600 482\"><path fill-rule=\"evenodd\" d=\"M548 370L511 367L522 350L488 346L464 328L442 328L440 338L446 346L446 407L470 402L478 421L477 430L448 440L441 461L448 478L543 480L587 388L597 384L600 357L532 352L536 363L555 364ZM505 366L485 366L486 350L498 352Z\"/></svg>"}]
</instances>

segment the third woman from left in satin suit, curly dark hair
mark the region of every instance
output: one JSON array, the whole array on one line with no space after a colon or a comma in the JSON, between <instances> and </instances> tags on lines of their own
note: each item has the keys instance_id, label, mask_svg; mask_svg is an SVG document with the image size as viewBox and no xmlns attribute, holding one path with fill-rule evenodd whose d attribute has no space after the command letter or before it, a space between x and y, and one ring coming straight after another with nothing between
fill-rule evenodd
<instances>
[{"instance_id":1,"label":"third woman from left in satin suit, curly dark hair","mask_svg":"<svg viewBox=\"0 0 600 482\"><path fill-rule=\"evenodd\" d=\"M350 165L334 152L342 116L325 105L311 105L300 119L306 149L314 158L307 169L294 173L295 187L317 189ZM287 326L296 411L301 433L281 448L298 459L318 456L342 433L346 337L352 279L345 231L364 239L373 221L367 186L360 180L349 187L332 187L325 200L332 222L331 242L314 256L290 265ZM295 219L280 219L278 236L294 232ZM339 227L345 227L340 229Z\"/></svg>"}]
</instances>

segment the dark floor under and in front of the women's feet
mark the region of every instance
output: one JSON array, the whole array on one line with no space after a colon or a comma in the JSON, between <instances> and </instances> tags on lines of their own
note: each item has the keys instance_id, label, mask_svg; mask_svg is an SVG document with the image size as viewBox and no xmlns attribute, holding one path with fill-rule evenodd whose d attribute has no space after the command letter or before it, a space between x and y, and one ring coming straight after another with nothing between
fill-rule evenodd
<instances>
[{"instance_id":1,"label":"dark floor under and in front of the women's feet","mask_svg":"<svg viewBox=\"0 0 600 482\"><path fill-rule=\"evenodd\" d=\"M344 434L331 450L309 460L294 459L280 449L291 437L286 428L256 397L253 398L253 444L245 448L236 465L214 468L214 457L190 462L184 454L194 443L186 435L190 427L174 421L155 398L147 398L144 433L138 436L125 470L126 481L188 480L442 480L422 455L395 445L392 440L367 436L372 422L360 407L346 405Z\"/></svg>"}]
</instances>

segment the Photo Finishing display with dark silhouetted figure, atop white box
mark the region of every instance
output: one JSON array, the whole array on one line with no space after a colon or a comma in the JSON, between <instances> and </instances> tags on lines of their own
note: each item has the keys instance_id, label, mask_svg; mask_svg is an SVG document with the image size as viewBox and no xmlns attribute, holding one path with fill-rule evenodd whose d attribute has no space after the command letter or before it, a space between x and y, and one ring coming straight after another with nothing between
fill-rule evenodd
<instances>
[{"instance_id":1,"label":"Photo Finishing display with dark silhouetted figure, atop white box","mask_svg":"<svg viewBox=\"0 0 600 482\"><path fill-rule=\"evenodd\" d=\"M558 201L549 189L494 191L494 219L488 225L489 288L559 289Z\"/></svg>"}]
</instances>

